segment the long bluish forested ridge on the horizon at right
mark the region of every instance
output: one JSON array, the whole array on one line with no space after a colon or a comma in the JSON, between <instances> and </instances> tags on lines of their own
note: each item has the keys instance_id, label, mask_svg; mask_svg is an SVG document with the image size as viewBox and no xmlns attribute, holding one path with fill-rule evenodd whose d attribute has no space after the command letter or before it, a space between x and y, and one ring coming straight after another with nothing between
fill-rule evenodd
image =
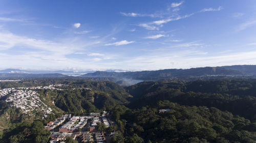
<instances>
[{"instance_id":1,"label":"long bluish forested ridge on the horizon at right","mask_svg":"<svg viewBox=\"0 0 256 143\"><path fill-rule=\"evenodd\" d=\"M137 71L137 72L104 72L97 71L87 73L80 77L114 77L137 80L159 80L165 78L194 79L212 78L216 76L254 76L256 75L256 65L238 65L224 67L204 67L191 69L165 69L157 71Z\"/></svg>"}]
</instances>

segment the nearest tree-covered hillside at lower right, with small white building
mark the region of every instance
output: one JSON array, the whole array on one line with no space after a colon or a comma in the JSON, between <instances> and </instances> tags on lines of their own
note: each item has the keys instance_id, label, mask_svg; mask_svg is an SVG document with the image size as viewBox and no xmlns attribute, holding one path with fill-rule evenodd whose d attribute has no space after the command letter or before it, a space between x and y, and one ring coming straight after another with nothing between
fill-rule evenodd
<instances>
[{"instance_id":1,"label":"nearest tree-covered hillside at lower right, with small white building","mask_svg":"<svg viewBox=\"0 0 256 143\"><path fill-rule=\"evenodd\" d=\"M255 142L255 123L215 107L159 101L153 106L116 112L120 120L127 121L127 134L145 142Z\"/></svg>"}]
</instances>

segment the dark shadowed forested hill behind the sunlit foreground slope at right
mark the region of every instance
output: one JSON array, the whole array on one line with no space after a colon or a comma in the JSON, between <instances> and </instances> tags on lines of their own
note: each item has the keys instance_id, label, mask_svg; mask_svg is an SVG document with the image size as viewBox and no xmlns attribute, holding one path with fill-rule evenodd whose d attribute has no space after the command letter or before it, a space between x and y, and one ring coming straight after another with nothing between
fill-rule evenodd
<instances>
[{"instance_id":1,"label":"dark shadowed forested hill behind the sunlit foreground slope at right","mask_svg":"<svg viewBox=\"0 0 256 143\"><path fill-rule=\"evenodd\" d=\"M130 108L168 100L181 105L216 107L256 121L256 80L148 81L126 88Z\"/></svg>"}]
</instances>

